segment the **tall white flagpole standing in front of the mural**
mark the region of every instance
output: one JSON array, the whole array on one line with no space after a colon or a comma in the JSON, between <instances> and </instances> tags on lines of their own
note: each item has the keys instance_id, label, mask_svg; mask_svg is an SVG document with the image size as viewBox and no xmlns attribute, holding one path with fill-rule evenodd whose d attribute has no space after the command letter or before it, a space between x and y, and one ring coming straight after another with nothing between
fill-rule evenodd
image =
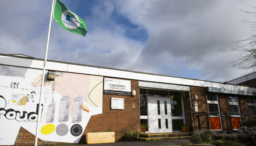
<instances>
[{"instance_id":1,"label":"tall white flagpole standing in front of the mural","mask_svg":"<svg viewBox=\"0 0 256 146\"><path fill-rule=\"evenodd\" d=\"M41 92L40 92L39 106L38 106L37 130L35 132L35 146L37 146L37 138L38 138L38 131L39 131L39 121L41 120L41 114L42 114L41 102L42 102L42 95L43 95L43 91L44 91L45 65L46 65L46 59L47 59L47 53L48 53L48 45L49 45L49 38L50 38L50 30L51 30L51 24L52 24L53 5L54 5L54 0L52 0L52 8L51 8L50 22L49 22L49 27L48 27L48 36L47 36L46 49L45 49L44 69L43 69L43 74L42 74L42 84L41 84Z\"/></svg>"}]
</instances>

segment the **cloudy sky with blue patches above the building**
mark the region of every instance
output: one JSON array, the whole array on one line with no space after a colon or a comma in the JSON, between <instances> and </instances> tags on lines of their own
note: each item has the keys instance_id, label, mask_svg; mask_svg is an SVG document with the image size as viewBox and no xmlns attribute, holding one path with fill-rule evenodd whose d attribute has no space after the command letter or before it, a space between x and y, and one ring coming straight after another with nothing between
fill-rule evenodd
<instances>
[{"instance_id":1,"label":"cloudy sky with blue patches above the building","mask_svg":"<svg viewBox=\"0 0 256 146\"><path fill-rule=\"evenodd\" d=\"M253 31L255 0L61 0L86 22L85 37L53 21L48 59L225 82L237 41ZM52 0L0 0L3 54L45 57ZM54 29L53 29L54 28Z\"/></svg>"}]
</instances>

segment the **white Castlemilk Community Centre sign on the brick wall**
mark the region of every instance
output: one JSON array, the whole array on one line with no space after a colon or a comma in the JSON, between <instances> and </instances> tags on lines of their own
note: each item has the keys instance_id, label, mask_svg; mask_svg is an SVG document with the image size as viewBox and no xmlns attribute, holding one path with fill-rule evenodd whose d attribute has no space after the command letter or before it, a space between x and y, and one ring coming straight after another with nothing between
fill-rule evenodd
<instances>
[{"instance_id":1,"label":"white Castlemilk Community Centre sign on the brick wall","mask_svg":"<svg viewBox=\"0 0 256 146\"><path fill-rule=\"evenodd\" d=\"M116 95L131 95L131 81L105 78L103 93Z\"/></svg>"}]
</instances>

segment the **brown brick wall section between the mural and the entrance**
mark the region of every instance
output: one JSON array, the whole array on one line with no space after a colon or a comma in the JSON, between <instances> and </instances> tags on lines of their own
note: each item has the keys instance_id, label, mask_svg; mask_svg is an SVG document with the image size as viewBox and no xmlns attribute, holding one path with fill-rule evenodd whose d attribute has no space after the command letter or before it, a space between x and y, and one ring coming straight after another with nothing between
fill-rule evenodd
<instances>
[{"instance_id":1,"label":"brown brick wall section between the mural and the entrance","mask_svg":"<svg viewBox=\"0 0 256 146\"><path fill-rule=\"evenodd\" d=\"M106 132L110 130L115 132L116 141L122 141L126 131L140 130L138 81L131 80L131 90L136 91L136 96L103 94L102 114L91 116L83 135L86 135L86 132ZM124 98L124 110L111 110L111 97ZM79 143L84 142L85 136L80 139Z\"/></svg>"}]
</instances>

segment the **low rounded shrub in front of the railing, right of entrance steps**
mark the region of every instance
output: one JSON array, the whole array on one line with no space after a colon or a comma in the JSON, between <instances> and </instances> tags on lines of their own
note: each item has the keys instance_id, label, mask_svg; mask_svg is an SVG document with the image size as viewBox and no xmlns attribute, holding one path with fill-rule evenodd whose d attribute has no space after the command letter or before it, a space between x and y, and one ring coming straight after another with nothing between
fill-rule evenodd
<instances>
[{"instance_id":1,"label":"low rounded shrub in front of the railing, right of entrance steps","mask_svg":"<svg viewBox=\"0 0 256 146\"><path fill-rule=\"evenodd\" d=\"M214 131L211 130L201 130L197 131L191 135L189 141L192 143L205 143L205 142L212 142L213 135L215 135Z\"/></svg>"}]
</instances>

